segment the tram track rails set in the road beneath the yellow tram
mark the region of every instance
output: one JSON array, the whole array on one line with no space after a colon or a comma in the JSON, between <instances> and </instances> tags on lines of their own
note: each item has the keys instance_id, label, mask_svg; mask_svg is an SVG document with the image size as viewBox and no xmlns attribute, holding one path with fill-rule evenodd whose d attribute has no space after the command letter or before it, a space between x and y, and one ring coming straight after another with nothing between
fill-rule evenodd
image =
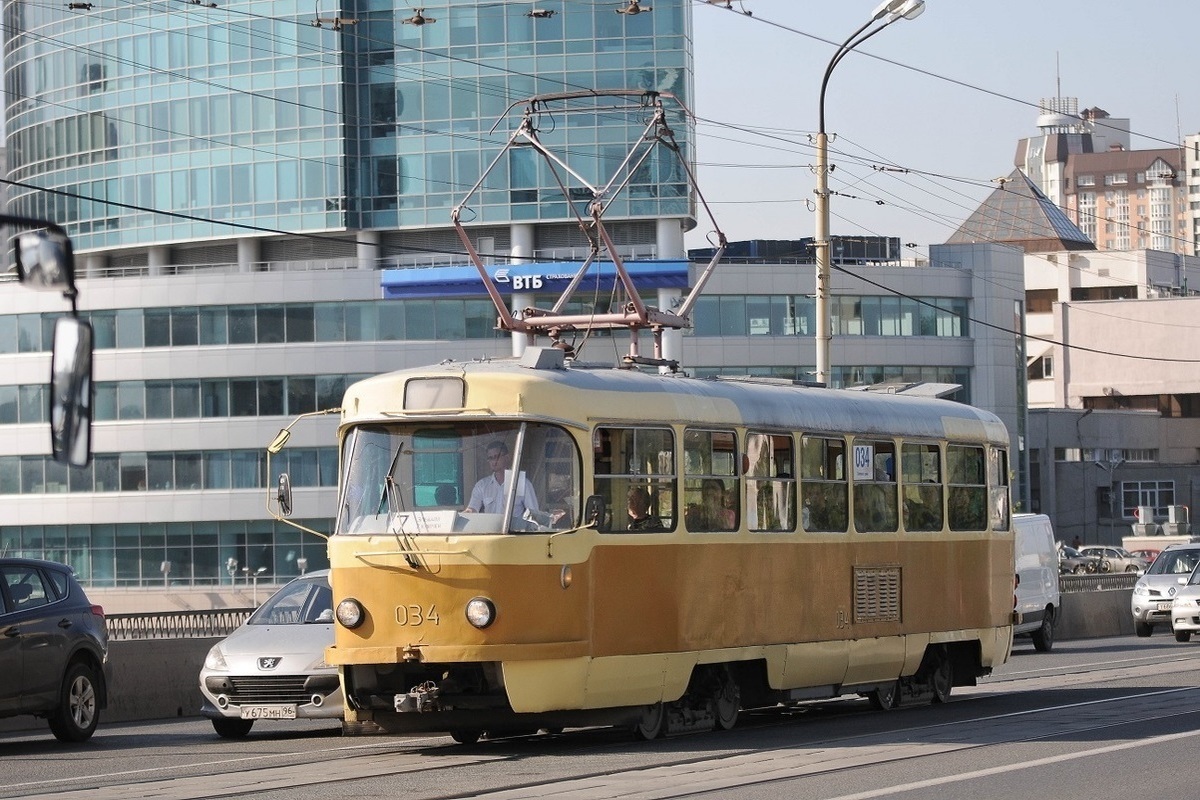
<instances>
[{"instance_id":1,"label":"tram track rails set in the road beneath the yellow tram","mask_svg":"<svg viewBox=\"0 0 1200 800\"><path fill-rule=\"evenodd\" d=\"M786 714L749 714L745 724L730 733L680 736L648 746L631 746L619 735L604 730L484 742L473 747L448 746L444 738L356 740L353 744L341 740L342 744L332 747L296 747L294 752L223 758L182 768L96 771L36 786L11 783L0 789L0 796L30 800L287 798L298 796L290 793L305 787L320 786L322 796L338 798L361 796L364 788L378 782L390 784L394 778L406 787L406 798L426 800L568 796L572 800L671 800L708 793L715 796L736 787L773 782L806 778L829 782L830 776L840 781L842 776L869 775L874 768L888 764L912 764L914 772L924 774L913 786L937 786L938 781L983 776L989 769L1013 769L1015 765L1003 763L998 753L1004 745L1014 742L1050 742L1044 747L1052 752L1040 756L1044 763L1098 753L1096 748L1081 751L1080 744L1120 738L1114 732L1132 716L1178 728L1164 734L1169 738L1200 738L1200 687L1172 686L1168 680L1162 687L1150 688L1164 676L1186 675L1196 668L1200 668L1200 652L1192 656L1181 651L1166 658L1094 660L1073 664L1069 670L1066 667L1010 670L980 686L955 690L961 702L940 709L936 715L949 712L955 718L930 722L935 716L930 709L911 709L916 711L913 715L901 709L887 715L883 730L833 739L822 738L822 733L845 732L847 726L857 724L857 720L880 712L866 711L865 703L857 700L812 704ZM1122 684L1135 688L1114 688ZM1104 696L1097 697L1102 687ZM1031 697L1046 692L1072 693L1062 703L992 712L997 708L996 696ZM798 723L798 716L815 717L814 724ZM823 716L828 717L829 726L821 723L818 717ZM922 723L895 724L916 721ZM710 745L718 740L722 752L710 754ZM739 744L751 740L754 745ZM791 740L790 744L774 744L786 740ZM990 759L1001 763L979 766ZM942 764L966 760L972 769L940 774L944 771ZM451 787L475 788L464 792ZM863 789L836 796L842 800L883 796L872 792L875 789Z\"/></svg>"}]
</instances>

